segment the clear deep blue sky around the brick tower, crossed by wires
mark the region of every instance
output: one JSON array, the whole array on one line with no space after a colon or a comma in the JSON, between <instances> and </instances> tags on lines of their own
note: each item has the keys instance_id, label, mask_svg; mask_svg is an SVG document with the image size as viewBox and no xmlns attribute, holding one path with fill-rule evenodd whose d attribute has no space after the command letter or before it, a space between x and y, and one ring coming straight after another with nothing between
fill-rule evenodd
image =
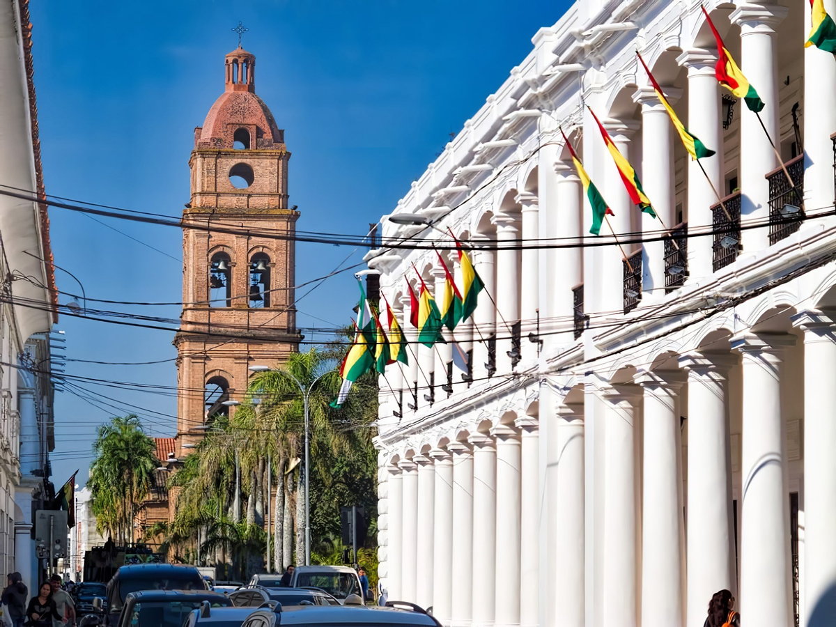
<instances>
[{"instance_id":1,"label":"clear deep blue sky around the brick tower, crossed by wires","mask_svg":"<svg viewBox=\"0 0 836 627\"><path fill-rule=\"evenodd\" d=\"M189 200L193 130L223 90L223 59L257 56L257 94L286 130L299 230L358 234L390 212L461 125L555 23L566 0L179 0L33 2L33 55L47 191L179 216ZM181 232L51 209L55 261L89 297L181 300ZM105 226L107 225L107 226ZM109 228L110 227L110 228ZM166 252L155 252L113 228ZM331 272L349 247L299 243L297 283ZM356 263L364 250L355 252ZM78 284L58 271L59 289ZM299 296L299 294L298 294ZM298 302L300 326L344 324L350 274ZM67 298L62 298L66 302ZM177 318L179 307L99 305ZM310 317L316 316L321 320ZM176 398L105 380L176 385L173 334L64 316L68 375L99 407L64 392L53 481L84 483L95 426L134 410L151 435L176 431ZM109 407L115 405L115 407ZM131 408L130 405L135 405Z\"/></svg>"}]
</instances>

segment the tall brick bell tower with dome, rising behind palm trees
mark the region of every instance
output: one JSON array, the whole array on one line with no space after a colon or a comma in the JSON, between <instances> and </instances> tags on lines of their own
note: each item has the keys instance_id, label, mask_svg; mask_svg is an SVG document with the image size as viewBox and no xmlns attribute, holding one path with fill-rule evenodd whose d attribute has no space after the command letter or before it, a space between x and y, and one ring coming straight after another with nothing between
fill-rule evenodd
<instances>
[{"instance_id":1,"label":"tall brick bell tower with dome, rising behind palm trees","mask_svg":"<svg viewBox=\"0 0 836 627\"><path fill-rule=\"evenodd\" d=\"M290 153L256 95L255 69L255 56L240 45L227 54L226 87L195 129L189 159L185 304L174 340L178 457L206 432L207 419L232 411L225 400L242 399L249 366L283 362L302 339L291 289L294 243L264 237L296 232L299 213L288 209Z\"/></svg>"}]
</instances>

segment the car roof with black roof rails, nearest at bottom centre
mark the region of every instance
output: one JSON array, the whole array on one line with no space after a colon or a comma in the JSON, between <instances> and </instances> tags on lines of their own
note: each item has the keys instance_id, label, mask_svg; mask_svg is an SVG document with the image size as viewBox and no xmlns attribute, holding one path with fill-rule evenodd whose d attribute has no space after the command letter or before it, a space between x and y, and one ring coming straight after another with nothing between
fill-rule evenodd
<instances>
[{"instance_id":1,"label":"car roof with black roof rails, nearest at bottom centre","mask_svg":"<svg viewBox=\"0 0 836 627\"><path fill-rule=\"evenodd\" d=\"M363 625L363 627L393 627L393 625L425 625L441 627L435 618L415 604L398 601L386 604L357 606L316 606L283 608L281 604L257 609L244 620L241 627L286 627L288 624L318 627L319 625Z\"/></svg>"}]
</instances>

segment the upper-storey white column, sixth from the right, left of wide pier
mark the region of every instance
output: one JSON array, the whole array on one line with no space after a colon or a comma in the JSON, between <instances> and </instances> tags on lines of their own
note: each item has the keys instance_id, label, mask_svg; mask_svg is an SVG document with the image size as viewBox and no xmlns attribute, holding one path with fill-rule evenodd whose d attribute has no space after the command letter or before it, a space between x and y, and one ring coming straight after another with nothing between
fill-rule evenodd
<instances>
[{"instance_id":1,"label":"upper-storey white column, sixth from the right, left of wide pier","mask_svg":"<svg viewBox=\"0 0 836 627\"><path fill-rule=\"evenodd\" d=\"M554 164L554 171L558 175L558 228L554 237L581 237L584 230L584 203L581 198L584 186L581 185L572 164L558 161ZM571 330L573 326L569 323L574 314L572 289L584 282L583 252L583 248L580 247L558 248L554 252L555 268L558 270L555 272L553 309L548 318L556 317L559 322L551 321L548 330L552 331L558 327L567 329L565 334L560 334L558 339L553 340L556 344L566 344L574 339Z\"/></svg>"}]
</instances>

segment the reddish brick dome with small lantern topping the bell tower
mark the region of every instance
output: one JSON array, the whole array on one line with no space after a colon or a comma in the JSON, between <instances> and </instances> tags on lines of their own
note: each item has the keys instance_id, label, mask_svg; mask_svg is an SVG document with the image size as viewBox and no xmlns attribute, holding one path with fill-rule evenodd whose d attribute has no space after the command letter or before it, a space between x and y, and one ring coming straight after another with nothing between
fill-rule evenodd
<instances>
[{"instance_id":1,"label":"reddish brick dome with small lantern topping the bell tower","mask_svg":"<svg viewBox=\"0 0 836 627\"><path fill-rule=\"evenodd\" d=\"M256 57L243 48L227 54L225 89L195 130L196 148L232 149L242 141L247 150L284 150L284 131L267 104L256 95Z\"/></svg>"}]
</instances>

